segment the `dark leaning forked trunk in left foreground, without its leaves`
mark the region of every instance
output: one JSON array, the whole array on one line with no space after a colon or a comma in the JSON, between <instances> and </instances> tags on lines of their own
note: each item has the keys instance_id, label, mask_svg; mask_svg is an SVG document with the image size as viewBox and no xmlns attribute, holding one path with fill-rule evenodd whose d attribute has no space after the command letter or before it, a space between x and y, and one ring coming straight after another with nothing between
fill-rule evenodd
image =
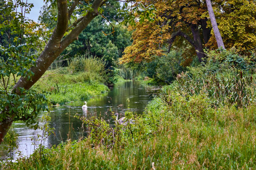
<instances>
[{"instance_id":1,"label":"dark leaning forked trunk in left foreground, without its leaves","mask_svg":"<svg viewBox=\"0 0 256 170\"><path fill-rule=\"evenodd\" d=\"M38 81L38 79L41 78L51 63L61 54L62 51L64 51L68 45L70 45L70 43L77 40L77 37L81 31L83 31L84 28L86 28L86 26L90 23L90 21L99 14L98 8L102 6L103 0L94 0L92 10L89 10L84 17L78 19L75 28L73 28L70 34L63 38L65 32L68 29L68 20L78 3L79 0L74 0L73 5L68 10L67 0L57 1L57 26L55 27L50 40L47 42L44 51L38 57L36 66L30 69L34 73L34 76L32 76L30 80L28 80L27 77L21 77L14 86L13 93L20 94L19 88L25 88L28 90L32 87L32 85L35 84L35 82ZM8 113L8 111L8 108L6 108L6 113ZM9 118L0 122L0 144L3 141L6 132L9 130L9 127L12 125L15 113L8 113L7 115L10 115Z\"/></svg>"}]
</instances>

